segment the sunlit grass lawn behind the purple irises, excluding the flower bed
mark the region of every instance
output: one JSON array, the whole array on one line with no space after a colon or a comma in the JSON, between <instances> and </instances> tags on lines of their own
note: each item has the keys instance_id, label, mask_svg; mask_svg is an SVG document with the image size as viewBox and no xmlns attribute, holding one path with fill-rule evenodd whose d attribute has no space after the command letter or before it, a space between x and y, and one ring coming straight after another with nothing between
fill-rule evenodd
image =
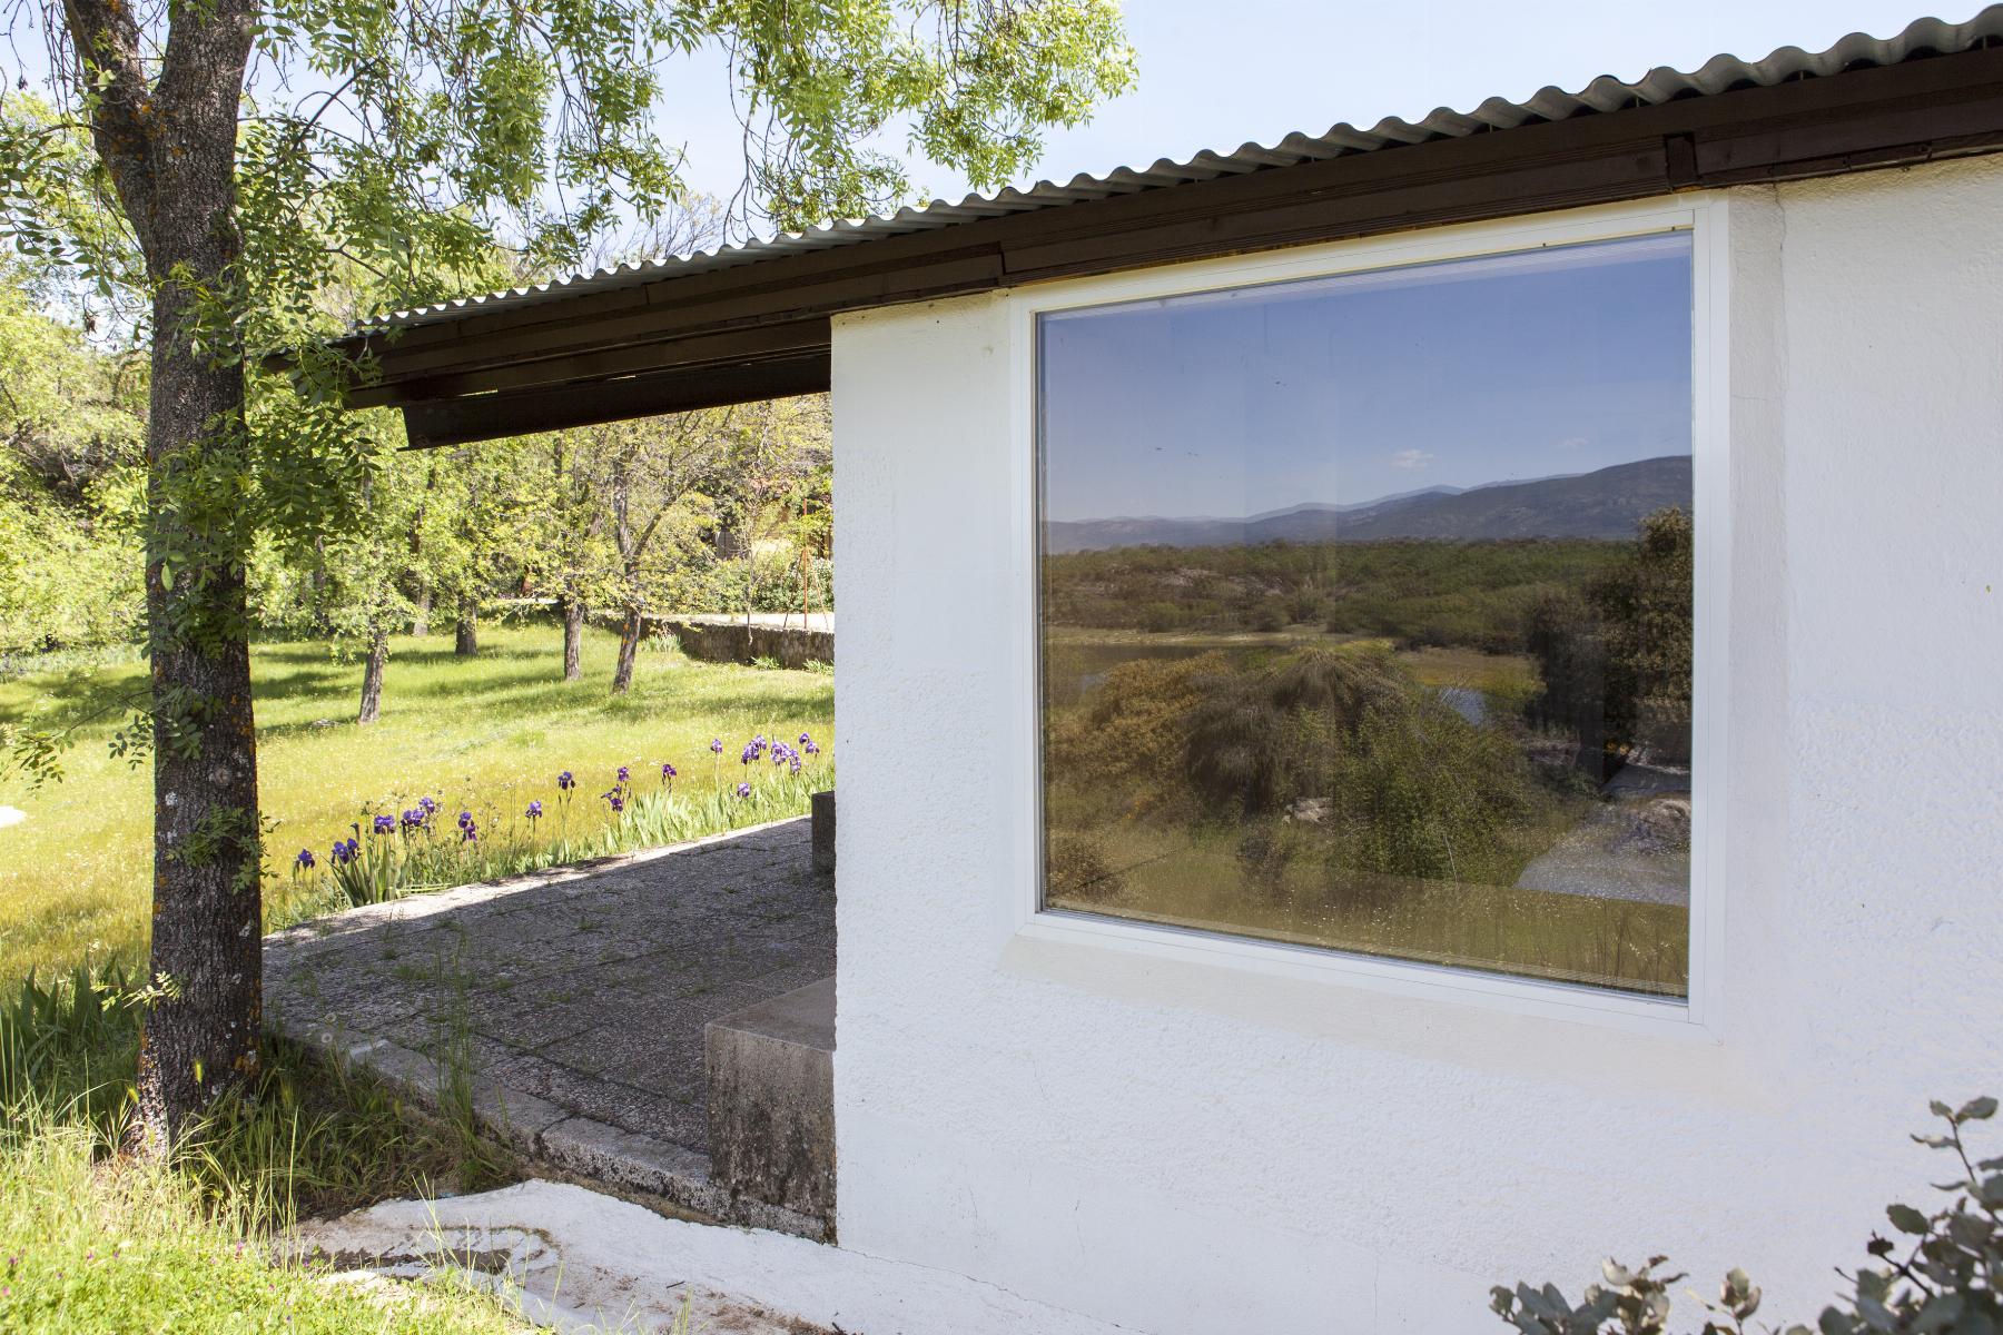
<instances>
[{"instance_id":1,"label":"sunlit grass lawn behind the purple irises, excluding the flower bed","mask_svg":"<svg viewBox=\"0 0 2003 1335\"><path fill-rule=\"evenodd\" d=\"M725 743L725 785L737 783L737 751L753 733L791 741L807 731L823 747L833 741L833 677L825 673L649 650L631 695L619 699L609 687L613 648L609 632L587 630L585 679L565 685L561 630L551 624L481 626L475 658L455 656L451 634L399 638L383 719L369 729L355 725L361 664L332 660L320 642L252 648L258 795L272 823L268 915L312 907L292 895L292 855L310 847L324 865L328 845L367 805L399 811L429 795L447 813L481 813L483 829L493 829L497 817L519 819L531 799L555 811L555 777L573 771L579 789L567 819L577 837L609 819L599 793L621 765L633 767L641 793L671 761L683 791L709 795L711 737ZM56 717L80 717L142 685L142 662L0 681L0 719L22 719L44 701L56 703ZM60 785L26 793L0 781L0 803L28 813L22 825L0 829L0 981L142 959L152 773L108 755L118 717L110 709L80 733ZM553 825L545 819L541 829L555 835Z\"/></svg>"}]
</instances>

